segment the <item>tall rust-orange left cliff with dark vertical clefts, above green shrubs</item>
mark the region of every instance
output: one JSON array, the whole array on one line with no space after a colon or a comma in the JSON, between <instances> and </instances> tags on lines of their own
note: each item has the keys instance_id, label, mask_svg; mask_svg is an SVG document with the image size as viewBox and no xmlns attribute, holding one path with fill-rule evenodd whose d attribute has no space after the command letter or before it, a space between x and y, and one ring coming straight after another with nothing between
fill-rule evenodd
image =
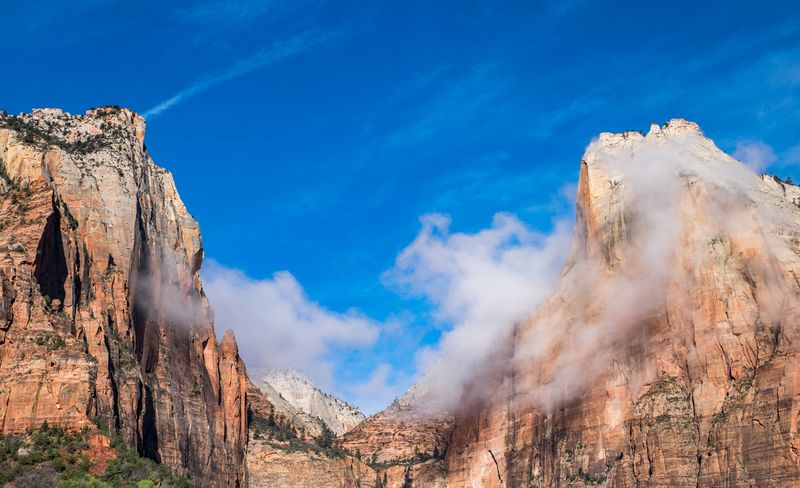
<instances>
[{"instance_id":1,"label":"tall rust-orange left cliff with dark vertical clefts, above green shrubs","mask_svg":"<svg viewBox=\"0 0 800 488\"><path fill-rule=\"evenodd\" d=\"M143 141L126 109L0 116L0 431L96 417L201 486L239 486L244 365Z\"/></svg>"}]
</instances>

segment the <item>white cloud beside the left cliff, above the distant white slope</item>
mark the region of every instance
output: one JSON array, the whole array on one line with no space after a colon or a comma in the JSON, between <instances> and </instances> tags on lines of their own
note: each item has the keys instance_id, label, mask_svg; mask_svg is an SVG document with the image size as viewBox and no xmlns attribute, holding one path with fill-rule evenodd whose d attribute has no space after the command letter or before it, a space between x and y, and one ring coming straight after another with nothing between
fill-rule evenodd
<instances>
[{"instance_id":1,"label":"white cloud beside the left cliff, above the distant white slope","mask_svg":"<svg viewBox=\"0 0 800 488\"><path fill-rule=\"evenodd\" d=\"M294 367L330 390L337 353L378 339L376 321L356 310L326 309L287 271L256 280L208 260L202 275L217 328L233 329L251 370Z\"/></svg>"}]
</instances>

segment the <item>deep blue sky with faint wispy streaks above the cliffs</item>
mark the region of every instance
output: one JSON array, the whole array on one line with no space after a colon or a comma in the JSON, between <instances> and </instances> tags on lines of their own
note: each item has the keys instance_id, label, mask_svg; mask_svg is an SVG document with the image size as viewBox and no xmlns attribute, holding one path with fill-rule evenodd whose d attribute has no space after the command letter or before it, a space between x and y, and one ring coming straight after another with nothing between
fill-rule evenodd
<instances>
[{"instance_id":1,"label":"deep blue sky with faint wispy streaks above the cliffs","mask_svg":"<svg viewBox=\"0 0 800 488\"><path fill-rule=\"evenodd\" d=\"M147 146L174 173L207 257L251 288L280 283L270 296L302 301L293 320L306 333L321 330L315 317L334 320L313 364L297 365L369 411L409 385L420 349L458 320L429 288L391 279L422 216L475 236L509 212L550 235L570 219L593 136L673 117L800 180L796 2L3 9L0 108L146 114ZM340 334L352 321L367 339ZM240 342L267 340L249 330Z\"/></svg>"}]
</instances>

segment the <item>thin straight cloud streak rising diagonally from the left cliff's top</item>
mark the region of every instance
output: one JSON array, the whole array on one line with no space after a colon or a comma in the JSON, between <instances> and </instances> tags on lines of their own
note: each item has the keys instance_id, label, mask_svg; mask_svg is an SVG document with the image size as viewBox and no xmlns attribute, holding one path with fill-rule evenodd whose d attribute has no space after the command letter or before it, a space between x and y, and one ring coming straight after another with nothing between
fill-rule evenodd
<instances>
[{"instance_id":1,"label":"thin straight cloud streak rising diagonally from the left cliff's top","mask_svg":"<svg viewBox=\"0 0 800 488\"><path fill-rule=\"evenodd\" d=\"M146 110L143 115L146 119L153 119L165 111L175 107L176 105L183 103L186 100L199 95L200 93L208 91L215 86L225 83L226 81L239 78L240 76L244 76L266 66L278 63L284 59L296 56L315 46L323 44L336 36L336 32L318 33L309 31L298 34L285 41L278 42L266 49L258 51L249 57L239 59L221 73L212 76L204 76L196 80L194 83L185 87L175 95Z\"/></svg>"}]
</instances>

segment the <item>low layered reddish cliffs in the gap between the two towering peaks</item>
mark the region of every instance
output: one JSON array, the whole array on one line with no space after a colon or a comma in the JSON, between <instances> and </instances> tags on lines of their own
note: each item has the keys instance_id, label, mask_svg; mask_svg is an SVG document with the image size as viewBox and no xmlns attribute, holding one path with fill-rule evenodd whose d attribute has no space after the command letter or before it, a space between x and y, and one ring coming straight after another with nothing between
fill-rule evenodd
<instances>
[{"instance_id":1,"label":"low layered reddish cliffs in the gap between the two towering peaks","mask_svg":"<svg viewBox=\"0 0 800 488\"><path fill-rule=\"evenodd\" d=\"M452 417L417 415L416 390L334 439L320 428L319 418L303 415L269 383L251 385L246 456L251 488L445 486L443 456Z\"/></svg>"}]
</instances>

